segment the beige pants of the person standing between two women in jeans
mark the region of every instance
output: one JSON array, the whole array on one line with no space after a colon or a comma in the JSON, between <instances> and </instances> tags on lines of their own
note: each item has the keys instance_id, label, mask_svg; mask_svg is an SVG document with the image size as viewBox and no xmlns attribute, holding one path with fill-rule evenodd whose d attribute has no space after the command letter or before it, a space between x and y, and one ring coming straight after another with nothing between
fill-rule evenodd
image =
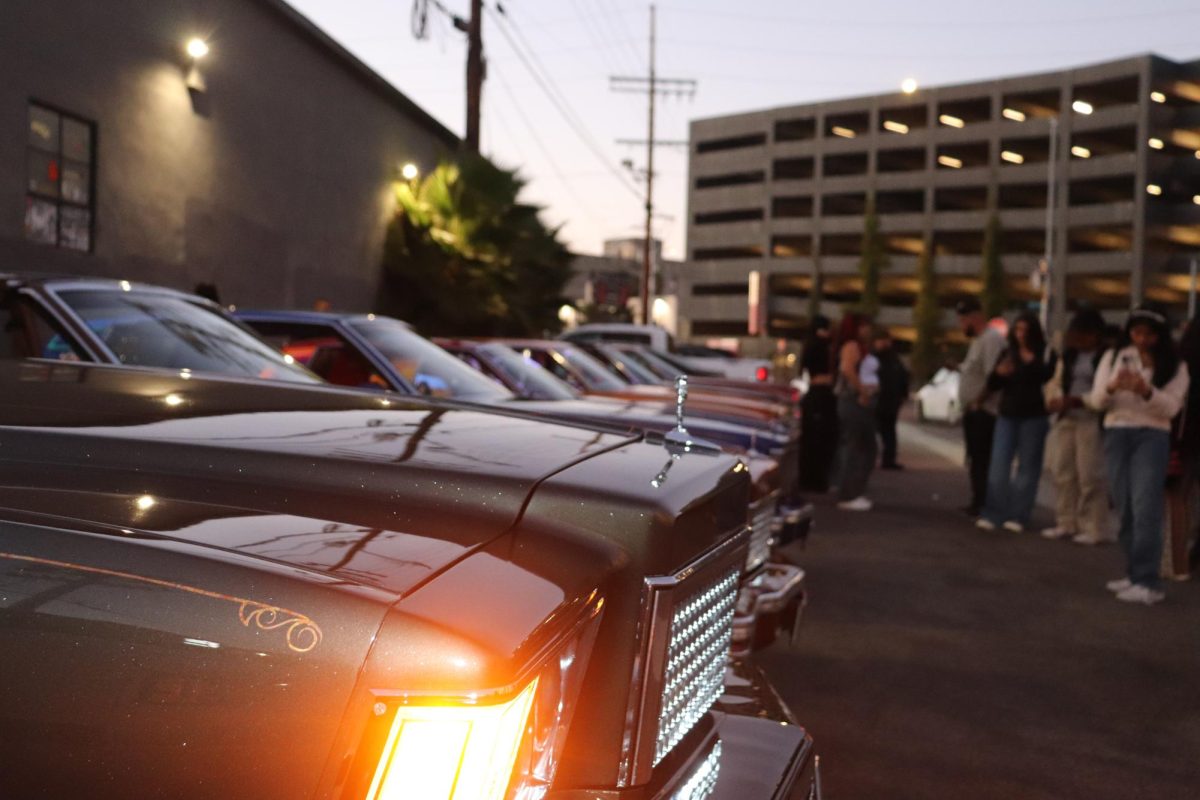
<instances>
[{"instance_id":1,"label":"beige pants of the person standing between two women in jeans","mask_svg":"<svg viewBox=\"0 0 1200 800\"><path fill-rule=\"evenodd\" d=\"M1074 411L1055 421L1050 437L1057 525L1076 534L1110 539L1100 421L1088 411Z\"/></svg>"}]
</instances>

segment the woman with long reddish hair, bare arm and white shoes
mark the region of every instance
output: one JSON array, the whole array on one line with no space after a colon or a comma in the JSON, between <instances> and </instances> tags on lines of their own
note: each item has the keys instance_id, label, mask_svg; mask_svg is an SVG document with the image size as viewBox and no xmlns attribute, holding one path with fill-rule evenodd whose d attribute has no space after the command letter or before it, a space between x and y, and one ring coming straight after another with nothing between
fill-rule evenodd
<instances>
[{"instance_id":1,"label":"woman with long reddish hair, bare arm and white shoes","mask_svg":"<svg viewBox=\"0 0 1200 800\"><path fill-rule=\"evenodd\" d=\"M862 314L841 323L838 354L838 507L870 511L866 483L878 452L875 405L880 392L880 361L871 354L872 326Z\"/></svg>"}]
</instances>

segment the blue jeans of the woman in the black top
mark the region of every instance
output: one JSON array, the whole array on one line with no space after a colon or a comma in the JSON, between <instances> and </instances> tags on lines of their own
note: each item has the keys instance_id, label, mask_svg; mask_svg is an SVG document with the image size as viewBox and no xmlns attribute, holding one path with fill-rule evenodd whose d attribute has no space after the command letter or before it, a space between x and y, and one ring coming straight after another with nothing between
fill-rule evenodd
<instances>
[{"instance_id":1,"label":"blue jeans of the woman in the black top","mask_svg":"<svg viewBox=\"0 0 1200 800\"><path fill-rule=\"evenodd\" d=\"M1045 416L1000 416L991 440L988 465L988 499L983 518L991 523L1030 524L1038 499L1042 461L1045 456L1050 419ZM1013 476L1013 459L1016 476Z\"/></svg>"}]
</instances>

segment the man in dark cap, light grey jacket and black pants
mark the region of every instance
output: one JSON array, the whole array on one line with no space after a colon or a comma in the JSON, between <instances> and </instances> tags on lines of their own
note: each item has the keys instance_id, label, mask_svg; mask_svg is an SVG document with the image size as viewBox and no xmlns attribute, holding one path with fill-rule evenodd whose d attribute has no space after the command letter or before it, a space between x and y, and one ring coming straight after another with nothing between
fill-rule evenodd
<instances>
[{"instance_id":1,"label":"man in dark cap, light grey jacket and black pants","mask_svg":"<svg viewBox=\"0 0 1200 800\"><path fill-rule=\"evenodd\" d=\"M959 314L959 326L971 339L967 356L959 366L959 408L962 409L962 440L971 479L971 503L965 511L970 517L978 517L988 497L991 440L1000 410L1000 398L988 389L988 378L1004 351L1004 335L988 324L974 297L960 300L954 309Z\"/></svg>"}]
</instances>

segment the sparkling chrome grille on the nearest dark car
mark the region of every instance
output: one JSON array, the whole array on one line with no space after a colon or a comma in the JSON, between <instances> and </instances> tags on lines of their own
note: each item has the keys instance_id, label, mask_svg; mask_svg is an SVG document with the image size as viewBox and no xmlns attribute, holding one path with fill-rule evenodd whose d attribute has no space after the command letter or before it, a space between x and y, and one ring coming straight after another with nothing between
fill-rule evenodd
<instances>
[{"instance_id":1,"label":"sparkling chrome grille on the nearest dark car","mask_svg":"<svg viewBox=\"0 0 1200 800\"><path fill-rule=\"evenodd\" d=\"M679 744L725 691L740 570L680 597L671 615L654 764Z\"/></svg>"}]
</instances>

